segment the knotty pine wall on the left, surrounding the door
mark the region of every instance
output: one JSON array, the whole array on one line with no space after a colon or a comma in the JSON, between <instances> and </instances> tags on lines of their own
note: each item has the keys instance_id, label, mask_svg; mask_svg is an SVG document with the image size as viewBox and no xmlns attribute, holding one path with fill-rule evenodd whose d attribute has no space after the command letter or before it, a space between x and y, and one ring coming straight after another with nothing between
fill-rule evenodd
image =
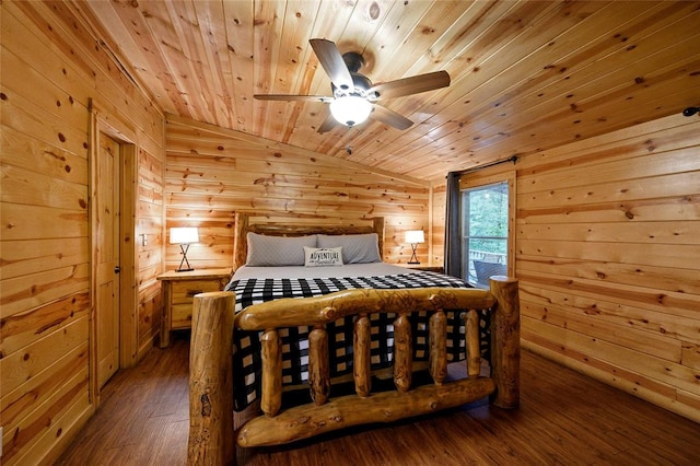
<instances>
[{"instance_id":1,"label":"knotty pine wall on the left, surrounding the door","mask_svg":"<svg viewBox=\"0 0 700 466\"><path fill-rule=\"evenodd\" d=\"M140 348L160 323L164 116L65 4L1 9L0 463L39 464L94 409L89 102L136 129Z\"/></svg>"}]
</instances>

